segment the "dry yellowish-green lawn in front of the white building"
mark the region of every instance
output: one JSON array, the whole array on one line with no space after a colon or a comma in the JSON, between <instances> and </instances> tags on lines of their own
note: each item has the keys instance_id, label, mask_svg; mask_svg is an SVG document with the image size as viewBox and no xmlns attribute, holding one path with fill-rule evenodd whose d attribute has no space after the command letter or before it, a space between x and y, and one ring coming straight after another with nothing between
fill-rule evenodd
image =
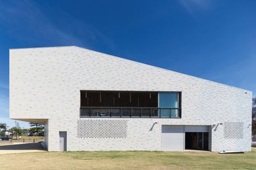
<instances>
[{"instance_id":1,"label":"dry yellowish-green lawn in front of the white building","mask_svg":"<svg viewBox=\"0 0 256 170\"><path fill-rule=\"evenodd\" d=\"M38 152L0 155L0 160L1 169L256 169L256 149L245 154Z\"/></svg>"}]
</instances>

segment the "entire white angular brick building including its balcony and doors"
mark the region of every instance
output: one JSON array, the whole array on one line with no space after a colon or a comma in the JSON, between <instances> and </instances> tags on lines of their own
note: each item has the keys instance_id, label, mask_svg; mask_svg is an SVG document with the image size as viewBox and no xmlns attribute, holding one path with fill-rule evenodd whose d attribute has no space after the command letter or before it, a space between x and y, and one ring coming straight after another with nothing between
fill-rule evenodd
<instances>
[{"instance_id":1,"label":"entire white angular brick building including its balcony and doors","mask_svg":"<svg viewBox=\"0 0 256 170\"><path fill-rule=\"evenodd\" d=\"M48 150L251 151L248 90L77 46L10 50L10 116Z\"/></svg>"}]
</instances>

